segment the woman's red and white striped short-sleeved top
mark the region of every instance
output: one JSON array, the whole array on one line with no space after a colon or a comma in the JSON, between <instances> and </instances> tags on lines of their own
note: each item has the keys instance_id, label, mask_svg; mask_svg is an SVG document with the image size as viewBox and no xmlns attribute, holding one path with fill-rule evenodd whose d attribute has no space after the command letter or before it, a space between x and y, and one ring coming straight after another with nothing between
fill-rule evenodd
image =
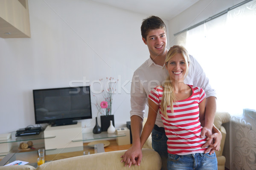
<instances>
[{"instance_id":1,"label":"woman's red and white striped short-sleeved top","mask_svg":"<svg viewBox=\"0 0 256 170\"><path fill-rule=\"evenodd\" d=\"M163 121L166 136L168 137L168 153L187 155L204 153L201 147L206 143L207 137L201 138L201 123L199 122L198 104L206 97L202 88L189 85L192 95L188 99L177 101L173 104L174 113L167 107L168 118L161 113L161 100L163 87L154 88L148 98L159 105L159 112Z\"/></svg>"}]
</instances>

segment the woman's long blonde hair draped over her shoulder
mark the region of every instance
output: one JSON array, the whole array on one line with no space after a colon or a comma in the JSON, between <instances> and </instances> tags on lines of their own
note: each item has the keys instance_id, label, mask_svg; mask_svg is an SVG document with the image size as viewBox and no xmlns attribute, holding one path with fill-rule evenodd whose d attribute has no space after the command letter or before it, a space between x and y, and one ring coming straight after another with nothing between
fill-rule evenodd
<instances>
[{"instance_id":1,"label":"woman's long blonde hair draped over her shoulder","mask_svg":"<svg viewBox=\"0 0 256 170\"><path fill-rule=\"evenodd\" d=\"M172 46L166 56L165 64L167 65L169 60L175 55L175 54L181 54L186 62L186 73L184 78L188 75L189 72L189 54L186 51L186 48L180 45L174 45ZM167 107L170 106L172 113L173 111L173 102L176 102L176 96L173 93L174 87L172 86L170 76L166 79L165 82L163 82L163 96L161 101L161 112L162 114L167 117Z\"/></svg>"}]
</instances>

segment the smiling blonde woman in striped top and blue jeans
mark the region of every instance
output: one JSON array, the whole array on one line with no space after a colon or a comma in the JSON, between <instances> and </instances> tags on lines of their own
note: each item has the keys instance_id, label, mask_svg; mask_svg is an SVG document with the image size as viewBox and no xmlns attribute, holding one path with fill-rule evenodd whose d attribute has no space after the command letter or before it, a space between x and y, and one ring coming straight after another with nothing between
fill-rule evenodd
<instances>
[{"instance_id":1,"label":"smiling blonde woman in striped top and blue jeans","mask_svg":"<svg viewBox=\"0 0 256 170\"><path fill-rule=\"evenodd\" d=\"M202 88L183 81L189 70L189 54L175 45L167 53L165 67L169 77L148 96L148 119L140 137L141 148L154 128L157 111L163 121L167 140L169 170L217 170L215 153L204 153L201 138L205 98Z\"/></svg>"}]
</instances>

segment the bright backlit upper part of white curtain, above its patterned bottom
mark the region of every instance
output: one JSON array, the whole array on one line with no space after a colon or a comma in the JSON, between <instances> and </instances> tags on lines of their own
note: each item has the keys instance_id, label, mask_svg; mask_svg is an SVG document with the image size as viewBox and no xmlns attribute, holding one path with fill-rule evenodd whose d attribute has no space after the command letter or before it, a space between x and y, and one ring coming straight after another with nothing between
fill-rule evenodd
<instances>
[{"instance_id":1,"label":"bright backlit upper part of white curtain, above its patterned bottom","mask_svg":"<svg viewBox=\"0 0 256 170\"><path fill-rule=\"evenodd\" d=\"M216 90L218 111L256 109L256 0L187 31L181 42Z\"/></svg>"}]
</instances>

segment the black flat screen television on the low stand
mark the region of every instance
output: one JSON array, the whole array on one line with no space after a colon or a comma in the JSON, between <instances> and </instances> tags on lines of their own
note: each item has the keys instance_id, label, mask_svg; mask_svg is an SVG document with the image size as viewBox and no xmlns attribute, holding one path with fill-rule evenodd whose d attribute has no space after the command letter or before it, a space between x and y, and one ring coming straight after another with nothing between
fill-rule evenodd
<instances>
[{"instance_id":1,"label":"black flat screen television on the low stand","mask_svg":"<svg viewBox=\"0 0 256 170\"><path fill-rule=\"evenodd\" d=\"M33 90L35 123L52 126L91 119L90 86Z\"/></svg>"}]
</instances>

